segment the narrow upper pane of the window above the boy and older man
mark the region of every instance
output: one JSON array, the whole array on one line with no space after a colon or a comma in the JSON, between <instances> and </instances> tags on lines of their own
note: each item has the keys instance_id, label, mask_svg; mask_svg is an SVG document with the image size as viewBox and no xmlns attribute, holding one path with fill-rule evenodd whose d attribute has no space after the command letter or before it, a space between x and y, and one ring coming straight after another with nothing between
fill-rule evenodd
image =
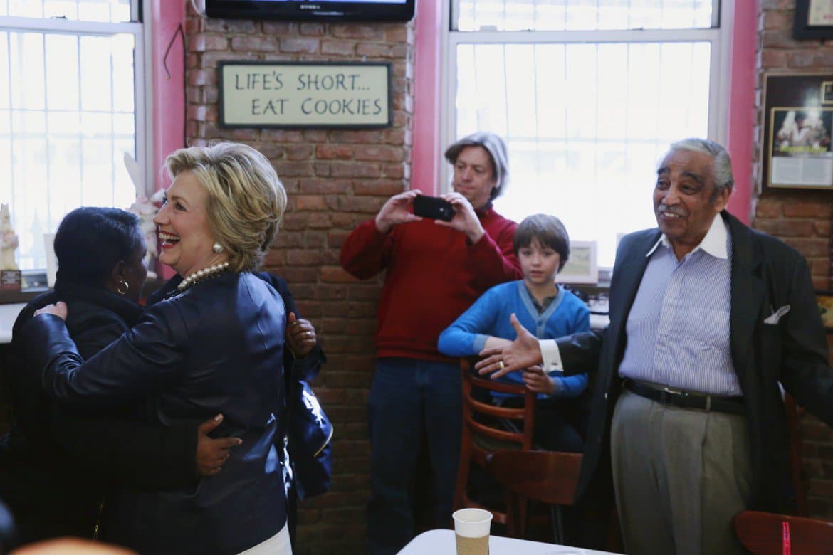
<instances>
[{"instance_id":1,"label":"narrow upper pane of the window above the boy and older man","mask_svg":"<svg viewBox=\"0 0 833 555\"><path fill-rule=\"evenodd\" d=\"M711 27L713 0L459 0L459 31Z\"/></svg>"}]
</instances>

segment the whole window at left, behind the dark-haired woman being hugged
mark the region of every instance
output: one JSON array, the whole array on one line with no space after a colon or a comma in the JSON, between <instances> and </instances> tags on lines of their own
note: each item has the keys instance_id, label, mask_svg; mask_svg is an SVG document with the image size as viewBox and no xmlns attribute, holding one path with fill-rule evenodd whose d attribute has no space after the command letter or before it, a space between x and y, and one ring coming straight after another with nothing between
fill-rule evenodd
<instances>
[{"instance_id":1,"label":"whole window at left, behind the dark-haired woman being hugged","mask_svg":"<svg viewBox=\"0 0 833 555\"><path fill-rule=\"evenodd\" d=\"M68 211L136 198L124 157L144 159L138 4L0 0L0 201L22 270L46 267L43 235Z\"/></svg>"}]
</instances>

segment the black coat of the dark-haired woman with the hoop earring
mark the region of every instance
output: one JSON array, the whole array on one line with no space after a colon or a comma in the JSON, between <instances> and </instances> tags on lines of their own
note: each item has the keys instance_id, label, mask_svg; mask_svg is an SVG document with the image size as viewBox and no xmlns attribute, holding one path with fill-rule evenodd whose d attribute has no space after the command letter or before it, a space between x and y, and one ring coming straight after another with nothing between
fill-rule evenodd
<instances>
[{"instance_id":1,"label":"black coat of the dark-haired woman with the hoop earring","mask_svg":"<svg viewBox=\"0 0 833 555\"><path fill-rule=\"evenodd\" d=\"M197 425L144 424L137 409L106 414L57 410L41 387L41 371L18 352L19 330L35 310L63 300L67 330L85 359L135 325L142 306L102 287L58 278L21 311L12 352L2 368L12 403L12 432L0 438L0 498L7 503L22 543L57 536L90 538L107 519L107 488L167 489L196 483ZM116 541L102 528L101 538Z\"/></svg>"}]
</instances>

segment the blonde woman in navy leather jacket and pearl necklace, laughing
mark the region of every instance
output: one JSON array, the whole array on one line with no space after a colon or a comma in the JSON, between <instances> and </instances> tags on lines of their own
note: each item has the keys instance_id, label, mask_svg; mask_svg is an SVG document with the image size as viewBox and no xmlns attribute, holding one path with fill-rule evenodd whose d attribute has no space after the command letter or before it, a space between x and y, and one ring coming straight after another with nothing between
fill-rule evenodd
<instances>
[{"instance_id":1,"label":"blonde woman in navy leather jacket and pearl necklace, laughing","mask_svg":"<svg viewBox=\"0 0 833 555\"><path fill-rule=\"evenodd\" d=\"M252 274L286 192L250 146L182 149L166 166L173 182L154 221L160 260L184 278L172 295L86 363L62 304L37 311L22 333L39 350L47 394L67 405L150 398L153 423L222 413L217 432L242 439L222 472L194 487L120 491L121 543L140 553L292 553L275 446L286 315L277 292Z\"/></svg>"}]
</instances>

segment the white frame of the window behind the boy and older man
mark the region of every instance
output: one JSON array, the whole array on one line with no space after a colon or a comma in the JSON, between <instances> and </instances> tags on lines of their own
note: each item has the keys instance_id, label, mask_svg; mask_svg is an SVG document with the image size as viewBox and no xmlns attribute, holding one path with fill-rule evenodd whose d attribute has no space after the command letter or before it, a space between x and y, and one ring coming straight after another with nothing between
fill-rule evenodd
<instances>
[{"instance_id":1,"label":"white frame of the window behind the boy and older man","mask_svg":"<svg viewBox=\"0 0 833 555\"><path fill-rule=\"evenodd\" d=\"M455 31L452 17L459 0L442 0L440 144L456 141L456 56L461 44L576 44L611 42L709 42L709 121L706 138L728 143L731 82L731 42L736 0L713 0L712 23L702 29L629 29L590 31ZM437 181L440 192L451 189L451 168L442 164ZM590 239L590 238L588 238ZM609 271L609 267L600 267ZM606 272L605 272L606 273Z\"/></svg>"}]
</instances>

